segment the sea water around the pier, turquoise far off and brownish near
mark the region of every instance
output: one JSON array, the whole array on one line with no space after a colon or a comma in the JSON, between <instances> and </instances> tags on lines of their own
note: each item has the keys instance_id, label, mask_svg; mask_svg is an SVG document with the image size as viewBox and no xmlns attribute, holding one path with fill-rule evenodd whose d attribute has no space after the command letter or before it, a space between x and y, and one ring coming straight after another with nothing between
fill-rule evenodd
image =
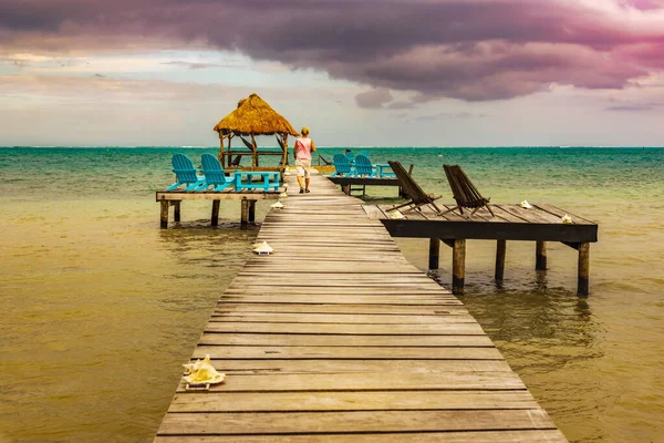
<instances>
[{"instance_id":1,"label":"sea water around the pier, turquoise far off and brownish near","mask_svg":"<svg viewBox=\"0 0 664 443\"><path fill-rule=\"evenodd\" d=\"M237 202L221 204L218 228L205 202L185 202L183 222L158 228L154 192L173 181L170 156L216 151L0 148L0 442L152 441L256 235L238 229ZM460 164L492 202L595 220L590 298L575 296L567 246L549 244L549 270L536 272L535 245L509 243L496 286L495 244L469 241L463 300L570 441L661 441L664 148L369 151L414 164L422 187L447 200L442 165ZM395 194L369 188L365 199ZM425 271L428 241L397 243ZM444 286L450 264L442 249Z\"/></svg>"}]
</instances>

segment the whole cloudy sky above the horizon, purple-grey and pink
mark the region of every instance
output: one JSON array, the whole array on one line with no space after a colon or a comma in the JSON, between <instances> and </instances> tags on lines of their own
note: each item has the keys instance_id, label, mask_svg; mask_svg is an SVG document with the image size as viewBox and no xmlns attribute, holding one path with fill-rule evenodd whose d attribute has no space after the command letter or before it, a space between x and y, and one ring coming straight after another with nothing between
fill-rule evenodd
<instances>
[{"instance_id":1,"label":"whole cloudy sky above the horizon, purple-grey and pink","mask_svg":"<svg viewBox=\"0 0 664 443\"><path fill-rule=\"evenodd\" d=\"M319 146L662 146L664 0L0 0L0 146L217 146L251 93Z\"/></svg>"}]
</instances>

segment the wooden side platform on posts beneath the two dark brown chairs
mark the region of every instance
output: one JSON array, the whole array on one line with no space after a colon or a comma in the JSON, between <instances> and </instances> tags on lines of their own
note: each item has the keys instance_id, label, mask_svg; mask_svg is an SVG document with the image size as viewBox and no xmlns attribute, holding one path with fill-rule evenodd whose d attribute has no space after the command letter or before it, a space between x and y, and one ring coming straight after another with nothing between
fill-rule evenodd
<instances>
[{"instance_id":1,"label":"wooden side platform on posts beneath the two dark brown chairs","mask_svg":"<svg viewBox=\"0 0 664 443\"><path fill-rule=\"evenodd\" d=\"M455 207L438 204L443 213ZM466 240L496 240L495 278L501 281L505 274L507 240L535 241L537 270L547 269L547 241L560 241L579 253L578 285L579 296L589 295L590 244L598 241L598 225L553 205L537 204L531 208L519 205L491 204L492 216L486 207L480 208L468 219L458 213L436 214L433 208L423 206L411 210L405 218L393 218L392 205L364 206L372 219L380 219L393 237L429 239L429 269L438 268L439 245L453 248L453 293L464 293ZM562 217L571 216L566 224Z\"/></svg>"}]
</instances>

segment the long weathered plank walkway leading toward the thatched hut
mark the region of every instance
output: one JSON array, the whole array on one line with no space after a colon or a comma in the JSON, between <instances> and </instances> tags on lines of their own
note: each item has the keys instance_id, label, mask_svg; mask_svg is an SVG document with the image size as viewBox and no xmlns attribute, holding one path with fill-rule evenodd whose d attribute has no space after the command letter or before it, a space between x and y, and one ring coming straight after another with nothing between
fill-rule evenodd
<instances>
[{"instance_id":1,"label":"long weathered plank walkway leading toward the thatched hut","mask_svg":"<svg viewBox=\"0 0 664 443\"><path fill-rule=\"evenodd\" d=\"M360 199L312 176L266 218L155 442L566 442L463 303L408 264Z\"/></svg>"}]
</instances>

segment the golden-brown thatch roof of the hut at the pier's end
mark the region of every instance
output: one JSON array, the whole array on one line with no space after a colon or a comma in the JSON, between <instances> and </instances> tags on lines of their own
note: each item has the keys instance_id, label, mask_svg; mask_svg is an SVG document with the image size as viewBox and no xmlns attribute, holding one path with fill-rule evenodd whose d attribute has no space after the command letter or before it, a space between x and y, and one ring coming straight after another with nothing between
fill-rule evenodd
<instances>
[{"instance_id":1,"label":"golden-brown thatch roof of the hut at the pier's end","mask_svg":"<svg viewBox=\"0 0 664 443\"><path fill-rule=\"evenodd\" d=\"M240 135L298 135L293 126L257 94L238 102L238 107L225 116L215 131Z\"/></svg>"}]
</instances>

